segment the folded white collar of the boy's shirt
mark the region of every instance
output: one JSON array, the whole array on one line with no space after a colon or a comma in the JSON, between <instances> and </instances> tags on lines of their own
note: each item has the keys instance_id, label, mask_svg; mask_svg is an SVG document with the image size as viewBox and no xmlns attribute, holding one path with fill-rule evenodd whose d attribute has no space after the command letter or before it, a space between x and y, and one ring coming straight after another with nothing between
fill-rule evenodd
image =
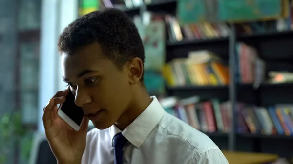
<instances>
[{"instance_id":1,"label":"folded white collar of the boy's shirt","mask_svg":"<svg viewBox=\"0 0 293 164\"><path fill-rule=\"evenodd\" d=\"M134 146L140 146L146 140L146 137L157 126L162 119L165 110L155 96L151 96L152 102L149 106L122 131L122 135ZM113 137L121 132L115 125L110 127L111 141Z\"/></svg>"}]
</instances>

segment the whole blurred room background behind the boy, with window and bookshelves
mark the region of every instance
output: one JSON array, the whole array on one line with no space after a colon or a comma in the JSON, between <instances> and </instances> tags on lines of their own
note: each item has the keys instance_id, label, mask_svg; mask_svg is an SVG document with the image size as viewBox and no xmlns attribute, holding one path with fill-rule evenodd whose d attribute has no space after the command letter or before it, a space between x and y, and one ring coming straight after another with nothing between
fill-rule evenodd
<instances>
[{"instance_id":1,"label":"whole blurred room background behind the boy, with window and bookshelves","mask_svg":"<svg viewBox=\"0 0 293 164\"><path fill-rule=\"evenodd\" d=\"M0 164L56 163L42 109L65 88L58 36L105 7L136 24L168 113L230 164L293 164L291 0L0 0Z\"/></svg>"}]
</instances>

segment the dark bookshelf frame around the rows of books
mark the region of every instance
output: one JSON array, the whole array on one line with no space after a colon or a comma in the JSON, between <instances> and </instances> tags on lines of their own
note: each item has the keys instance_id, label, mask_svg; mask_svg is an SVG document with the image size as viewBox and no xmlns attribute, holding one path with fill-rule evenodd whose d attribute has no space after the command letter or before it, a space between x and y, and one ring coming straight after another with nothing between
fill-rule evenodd
<instances>
[{"instance_id":1,"label":"dark bookshelf frame around the rows of books","mask_svg":"<svg viewBox=\"0 0 293 164\"><path fill-rule=\"evenodd\" d=\"M154 1L154 0L153 0ZM150 11L154 13L176 14L177 0L164 0L144 4L138 13ZM126 13L129 11L126 11ZM293 136L285 135L263 135L239 133L236 129L237 115L235 112L236 102L244 102L255 106L271 106L275 104L288 104L293 100L293 83L261 83L254 87L252 83L242 84L235 80L234 69L239 67L236 60L236 42L243 42L254 47L261 59L266 64L266 74L269 71L293 71L293 31L264 32L256 34L237 34L234 25L230 26L228 37L166 41L166 62L175 58L185 58L188 52L196 50L209 50L216 52L229 63L230 83L220 86L167 86L167 95L189 97L199 95L203 98L218 98L220 100L230 100L232 104L232 130L229 133L212 132L206 134L222 149L232 151L248 151L261 153L279 154L281 157L290 158L292 155L293 143L290 142ZM275 148L282 146L282 149Z\"/></svg>"}]
</instances>

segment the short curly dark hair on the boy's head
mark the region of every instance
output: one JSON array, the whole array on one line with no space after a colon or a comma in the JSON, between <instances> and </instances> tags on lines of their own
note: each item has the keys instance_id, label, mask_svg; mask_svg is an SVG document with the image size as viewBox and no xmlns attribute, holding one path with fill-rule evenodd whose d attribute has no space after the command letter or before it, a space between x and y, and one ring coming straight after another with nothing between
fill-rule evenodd
<instances>
[{"instance_id":1,"label":"short curly dark hair on the boy's head","mask_svg":"<svg viewBox=\"0 0 293 164\"><path fill-rule=\"evenodd\" d=\"M143 42L135 24L118 9L94 11L70 23L59 36L58 51L72 55L92 43L100 44L103 55L121 70L135 57L145 61Z\"/></svg>"}]
</instances>

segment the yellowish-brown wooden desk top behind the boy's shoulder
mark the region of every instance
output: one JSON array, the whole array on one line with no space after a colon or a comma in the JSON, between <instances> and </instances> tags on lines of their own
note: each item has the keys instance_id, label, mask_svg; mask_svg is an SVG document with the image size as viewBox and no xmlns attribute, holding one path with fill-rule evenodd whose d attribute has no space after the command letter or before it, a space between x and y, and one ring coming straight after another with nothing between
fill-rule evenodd
<instances>
[{"instance_id":1,"label":"yellowish-brown wooden desk top behind the boy's shoulder","mask_svg":"<svg viewBox=\"0 0 293 164\"><path fill-rule=\"evenodd\" d=\"M276 154L223 151L229 164L263 164L278 159Z\"/></svg>"}]
</instances>

